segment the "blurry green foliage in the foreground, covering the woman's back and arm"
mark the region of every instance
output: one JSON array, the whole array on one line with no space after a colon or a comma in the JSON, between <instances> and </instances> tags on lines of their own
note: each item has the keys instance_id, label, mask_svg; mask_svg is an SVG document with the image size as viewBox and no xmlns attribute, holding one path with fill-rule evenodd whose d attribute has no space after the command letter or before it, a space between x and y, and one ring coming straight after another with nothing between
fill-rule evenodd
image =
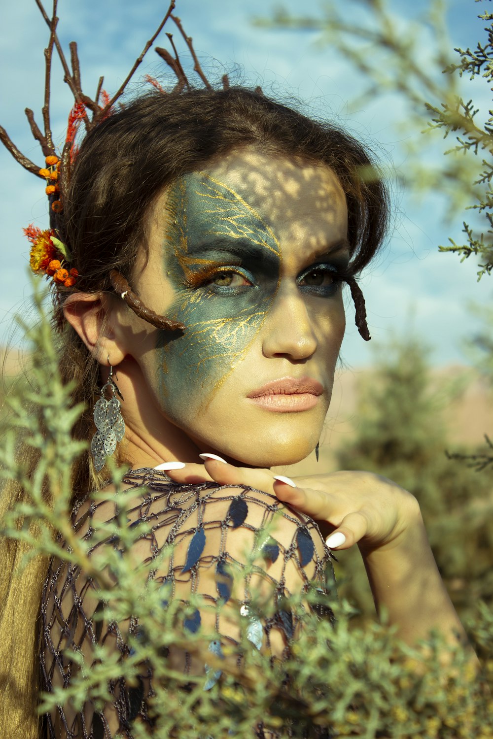
<instances>
[{"instance_id":1,"label":"blurry green foliage in the foreground, covering the woman's back and arm","mask_svg":"<svg viewBox=\"0 0 493 739\"><path fill-rule=\"evenodd\" d=\"M38 299L41 309L41 300ZM118 519L95 528L94 540L118 535L123 556L112 547L101 547L88 556L88 542L69 524L69 467L81 452L81 443L70 437L70 428L80 412L70 408L69 388L58 379L55 347L46 316L31 333L35 344L30 391L9 398L12 415L0 457L3 477L19 480L24 496L1 522L1 534L23 539L34 551L69 559L80 565L98 585L103 607L94 619L124 622L129 615L140 624L138 633L128 636L132 652L124 659L103 645L94 649L95 663L84 664L82 653L72 658L72 680L67 689L45 695L42 708L71 701L82 706L91 699L101 707L108 699L108 681L124 676L135 684L139 672L152 664L155 695L152 698L152 736L167 739L237 736L251 738L252 726L262 721L266 730L285 735L286 726L294 737L314 735L317 726L332 726L339 736L477 738L489 737L491 695L481 687L493 668L493 616L482 607L472 620L470 633L483 658L484 675L475 678L468 655L452 650L438 636L421 648L401 644L392 630L380 624L353 627L351 609L329 599L337 616L336 626L320 621L292 599L288 604L302 618L302 628L287 661L271 660L248 641L248 619L239 619L238 647L225 646L224 660L208 649L214 634L186 633L183 616L200 606L193 596L186 605L173 601L163 607L163 591L151 574L156 562L135 567L129 556L132 545L145 534L146 524L130 528L126 511L129 494L119 489L121 470L113 477L117 492L112 500ZM16 458L16 438L39 449L34 473L27 477L22 460ZM107 494L100 494L103 497ZM53 538L59 531L70 551ZM166 553L163 553L166 554ZM250 555L254 562L256 552ZM241 573L232 572L234 577ZM313 595L313 599L319 596ZM287 607L288 607L287 605ZM254 611L268 616L272 599L254 594ZM166 659L170 645L198 655L209 670L221 670L220 679L204 691L203 675L183 675ZM451 650L452 663L443 667L443 654ZM452 651L454 652L452 654ZM237 654L242 655L240 666ZM69 655L67 655L69 656ZM424 669L424 658L426 669ZM145 726L135 724L135 739L148 736Z\"/></svg>"}]
</instances>

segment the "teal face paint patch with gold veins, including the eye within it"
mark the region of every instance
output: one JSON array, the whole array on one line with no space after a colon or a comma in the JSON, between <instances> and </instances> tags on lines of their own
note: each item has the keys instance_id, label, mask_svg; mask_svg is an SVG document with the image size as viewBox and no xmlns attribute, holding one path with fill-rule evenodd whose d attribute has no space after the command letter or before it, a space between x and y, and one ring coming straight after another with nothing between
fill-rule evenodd
<instances>
[{"instance_id":1,"label":"teal face paint patch with gold veins, including the eye within it","mask_svg":"<svg viewBox=\"0 0 493 739\"><path fill-rule=\"evenodd\" d=\"M186 330L160 333L157 348L160 392L176 418L184 389L199 412L241 361L279 287L281 258L269 225L208 174L174 183L167 210L165 272L175 290L167 315Z\"/></svg>"}]
</instances>

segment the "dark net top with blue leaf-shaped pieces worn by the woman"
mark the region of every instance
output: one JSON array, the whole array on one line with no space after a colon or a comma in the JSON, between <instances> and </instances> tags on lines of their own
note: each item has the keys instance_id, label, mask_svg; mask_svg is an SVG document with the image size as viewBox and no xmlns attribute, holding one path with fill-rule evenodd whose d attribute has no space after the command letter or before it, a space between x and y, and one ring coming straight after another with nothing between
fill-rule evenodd
<instances>
[{"instance_id":1,"label":"dark net top with blue leaf-shaped pieces worn by the woman","mask_svg":"<svg viewBox=\"0 0 493 739\"><path fill-rule=\"evenodd\" d=\"M280 503L275 496L244 486L217 486L217 483L178 484L166 473L154 469L132 470L123 479L128 490L135 490L135 500L129 510L129 525L145 520L150 533L143 534L135 547L140 562L155 559L163 547L171 554L160 559L153 576L169 583L170 598L187 602L191 593L198 593L208 602L228 602L242 616L249 616L249 593L259 585L268 585L275 602L292 593L307 593L317 588L327 594L333 590L333 568L330 551L324 544L316 523L310 517ZM79 536L89 542L97 522L112 520L115 506L103 501L86 500L76 505L72 524ZM255 563L254 571L245 571L242 592L231 592L228 586L228 565L242 568L245 551L254 548L259 531L274 522L273 536L264 544L262 566ZM272 525L272 523L271 523ZM116 546L111 538L95 544ZM255 580L255 582L253 582ZM41 689L67 687L76 667L66 650L78 650L91 664L94 644L106 644L122 656L129 653L126 636L138 628L136 619L124 623L106 624L95 619L100 605L98 591L81 568L69 562L52 561L44 584L41 600ZM184 623L195 632L204 627L217 632L217 648L221 644L237 643L231 630L231 619L222 618L224 608L198 610ZM322 617L333 618L330 608L321 609ZM292 614L279 606L273 616L251 618L248 639L252 648L282 658L289 649L296 628ZM174 655L175 663L185 673L204 673L203 664L183 650ZM217 675L207 678L205 689L211 687ZM44 716L43 739L111 739L117 735L132 739L135 722L149 724L152 716L149 696L152 695L152 670L143 672L137 687L128 687L122 679L109 684L112 701L103 712L96 712L90 701L76 712L70 705L58 706ZM289 735L289 730L283 735ZM271 737L262 726L252 729L252 737ZM322 732L319 736L328 736Z\"/></svg>"}]
</instances>

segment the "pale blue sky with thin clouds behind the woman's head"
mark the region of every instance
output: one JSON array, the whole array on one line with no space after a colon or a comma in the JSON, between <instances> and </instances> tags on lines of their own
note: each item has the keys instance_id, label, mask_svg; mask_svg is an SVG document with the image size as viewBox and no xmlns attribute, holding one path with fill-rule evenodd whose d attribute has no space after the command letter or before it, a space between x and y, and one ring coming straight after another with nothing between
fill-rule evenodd
<instances>
[{"instance_id":1,"label":"pale blue sky with thin clouds behind the woman's head","mask_svg":"<svg viewBox=\"0 0 493 739\"><path fill-rule=\"evenodd\" d=\"M345 0L336 0L344 3ZM279 3L278 3L279 5ZM299 1L286 0L284 6L296 11ZM457 0L448 3L448 18L453 46L475 45L483 21L477 20L485 3ZM145 41L166 10L167 2L157 0L59 0L59 35L67 48L78 41L83 88L94 94L98 77L105 75L105 88L115 91L126 75ZM307 112L335 117L378 152L393 161L401 174L407 167L406 137L398 128L405 106L398 95L378 95L356 112L349 103L361 90L361 79L346 61L329 47L316 44L316 33L259 30L253 27L254 16L268 15L274 4L269 0L177 0L177 15L194 38L194 46L211 77L234 70L233 78L246 83L262 84L266 92L287 99L294 95L307 103ZM317 13L320 4L307 0L305 10ZM407 23L409 4L390 0L392 12ZM426 8L426 2L412 4L412 12ZM4 33L0 38L0 123L7 129L24 154L42 163L41 151L33 140L24 107L35 111L41 125L44 60L47 27L35 7L34 0L4 3L0 10ZM177 34L175 34L177 38ZM162 35L157 43L166 45ZM423 35L423 59L432 38ZM180 44L182 48L182 44ZM186 53L185 53L186 55ZM150 72L159 75L160 63L152 50L140 67L137 78ZM72 100L62 81L61 69L54 68L52 85L52 129L63 140ZM465 82L465 85L468 83ZM469 88L482 109L488 109L489 91L480 79ZM466 93L465 93L466 94ZM472 94L472 93L471 93ZM470 95L469 95L470 96ZM420 135L418 132L416 136ZM437 148L437 157L441 149ZM2 225L0 273L0 343L10 338L13 316L29 313L30 282L27 276L29 244L22 227L35 222L47 225L47 208L41 180L18 166L10 154L0 150ZM353 326L353 313L348 305L348 329L342 358L353 367L370 364L371 345L387 341L397 334L415 333L432 348L434 364L467 361L462 344L477 330L477 319L469 313L472 300L491 301L492 278L484 277L477 285L476 265L460 265L454 255L439 254L438 243L449 236L460 240L463 213L443 222L446 202L440 193L427 196L419 203L394 186L395 215L392 234L377 262L361 280L367 300L370 333L373 341L366 344Z\"/></svg>"}]
</instances>

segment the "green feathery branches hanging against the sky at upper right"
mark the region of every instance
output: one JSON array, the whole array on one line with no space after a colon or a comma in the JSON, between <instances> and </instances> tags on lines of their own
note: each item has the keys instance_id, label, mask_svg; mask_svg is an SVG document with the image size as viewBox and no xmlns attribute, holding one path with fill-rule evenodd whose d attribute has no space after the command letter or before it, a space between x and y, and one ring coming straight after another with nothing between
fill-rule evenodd
<instances>
[{"instance_id":1,"label":"green feathery branches hanging against the sky at upper right","mask_svg":"<svg viewBox=\"0 0 493 739\"><path fill-rule=\"evenodd\" d=\"M477 5L471 2L471 12ZM319 14L293 15L279 8L271 19L256 23L269 28L319 32L319 46L330 45L355 65L367 89L350 101L353 109L387 92L398 92L406 103L401 125L409 140L405 185L419 197L439 191L449 199L449 212L466 205L474 211L472 225L463 222L463 243L449 239L440 251L458 253L461 260L478 259L477 278L493 268L493 111L479 122L479 109L460 93L458 77L481 75L486 94L493 86L493 13L485 10L484 37L475 49L450 51L444 0L431 0L420 20L403 18L389 0L329 0ZM453 10L452 10L453 12ZM412 15L412 9L409 11ZM459 57L457 61L457 56ZM431 137L415 138L416 132ZM441 134L441 146L433 135ZM455 143L449 146L450 137ZM469 220L469 219L468 219Z\"/></svg>"}]
</instances>

